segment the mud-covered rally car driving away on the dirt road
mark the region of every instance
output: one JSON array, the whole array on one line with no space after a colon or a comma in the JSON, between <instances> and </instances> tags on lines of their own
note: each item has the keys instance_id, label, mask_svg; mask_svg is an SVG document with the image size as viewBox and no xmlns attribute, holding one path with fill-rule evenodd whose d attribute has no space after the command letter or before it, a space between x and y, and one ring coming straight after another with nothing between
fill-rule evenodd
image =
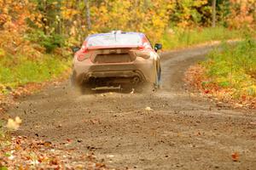
<instances>
[{"instance_id":1,"label":"mud-covered rally car driving away on the dirt road","mask_svg":"<svg viewBox=\"0 0 256 170\"><path fill-rule=\"evenodd\" d=\"M140 32L112 31L87 37L73 48L73 85L104 89L130 87L145 82L160 86L160 43L150 44Z\"/></svg>"}]
</instances>

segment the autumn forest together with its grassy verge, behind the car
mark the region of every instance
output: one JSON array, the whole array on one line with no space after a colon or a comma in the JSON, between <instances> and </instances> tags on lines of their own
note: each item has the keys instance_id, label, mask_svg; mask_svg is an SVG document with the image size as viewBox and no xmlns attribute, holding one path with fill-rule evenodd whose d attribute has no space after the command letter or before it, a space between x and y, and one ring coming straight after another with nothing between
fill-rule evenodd
<instances>
[{"instance_id":1,"label":"autumn forest together with its grassy verge, behind the car","mask_svg":"<svg viewBox=\"0 0 256 170\"><path fill-rule=\"evenodd\" d=\"M1 95L61 77L71 48L92 33L142 31L164 50L251 39L255 6L255 0L0 0ZM248 59L253 68L255 58Z\"/></svg>"}]
</instances>

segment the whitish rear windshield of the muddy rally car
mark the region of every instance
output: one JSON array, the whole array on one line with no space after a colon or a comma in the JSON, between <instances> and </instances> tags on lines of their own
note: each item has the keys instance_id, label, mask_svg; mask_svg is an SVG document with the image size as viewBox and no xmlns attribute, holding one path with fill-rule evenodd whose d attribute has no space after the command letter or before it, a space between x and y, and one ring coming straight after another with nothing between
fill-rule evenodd
<instances>
[{"instance_id":1,"label":"whitish rear windshield of the muddy rally car","mask_svg":"<svg viewBox=\"0 0 256 170\"><path fill-rule=\"evenodd\" d=\"M132 33L109 33L90 36L87 39L87 47L98 46L140 46L142 45L140 34Z\"/></svg>"}]
</instances>

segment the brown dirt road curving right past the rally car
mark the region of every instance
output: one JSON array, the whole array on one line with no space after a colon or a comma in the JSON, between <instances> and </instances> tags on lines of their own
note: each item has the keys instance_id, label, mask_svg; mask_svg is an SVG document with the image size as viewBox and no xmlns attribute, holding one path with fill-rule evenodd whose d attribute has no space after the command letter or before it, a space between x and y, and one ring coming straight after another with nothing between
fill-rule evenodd
<instances>
[{"instance_id":1,"label":"brown dirt road curving right past the rally car","mask_svg":"<svg viewBox=\"0 0 256 170\"><path fill-rule=\"evenodd\" d=\"M184 71L210 49L162 54L157 93L74 95L64 82L20 99L9 114L24 122L18 134L72 139L78 152L93 151L108 167L256 169L256 111L231 109L183 86Z\"/></svg>"}]
</instances>

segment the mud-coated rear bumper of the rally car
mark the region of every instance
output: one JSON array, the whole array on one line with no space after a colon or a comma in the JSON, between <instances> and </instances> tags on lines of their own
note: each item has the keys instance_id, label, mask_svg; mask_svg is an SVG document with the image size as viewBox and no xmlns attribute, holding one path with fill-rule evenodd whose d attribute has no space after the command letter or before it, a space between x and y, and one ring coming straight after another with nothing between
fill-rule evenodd
<instances>
[{"instance_id":1,"label":"mud-coated rear bumper of the rally car","mask_svg":"<svg viewBox=\"0 0 256 170\"><path fill-rule=\"evenodd\" d=\"M155 81L155 65L152 59L136 59L130 63L93 64L90 59L76 61L73 65L75 81L79 84L90 78L139 77L141 82Z\"/></svg>"}]
</instances>

